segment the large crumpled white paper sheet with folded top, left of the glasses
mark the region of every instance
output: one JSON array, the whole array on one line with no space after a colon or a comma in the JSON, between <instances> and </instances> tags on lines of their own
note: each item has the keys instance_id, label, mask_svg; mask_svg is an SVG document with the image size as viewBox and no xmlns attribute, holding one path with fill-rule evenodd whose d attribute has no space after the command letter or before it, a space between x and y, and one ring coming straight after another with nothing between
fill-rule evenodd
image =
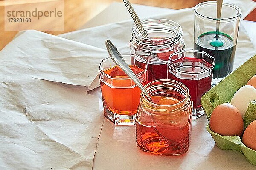
<instances>
[{"instance_id":1,"label":"large crumpled white paper sheet with folded top, left of the glasses","mask_svg":"<svg viewBox=\"0 0 256 170\"><path fill-rule=\"evenodd\" d=\"M92 169L103 114L87 86L105 57L39 31L20 33L0 52L1 170Z\"/></svg>"}]
</instances>

